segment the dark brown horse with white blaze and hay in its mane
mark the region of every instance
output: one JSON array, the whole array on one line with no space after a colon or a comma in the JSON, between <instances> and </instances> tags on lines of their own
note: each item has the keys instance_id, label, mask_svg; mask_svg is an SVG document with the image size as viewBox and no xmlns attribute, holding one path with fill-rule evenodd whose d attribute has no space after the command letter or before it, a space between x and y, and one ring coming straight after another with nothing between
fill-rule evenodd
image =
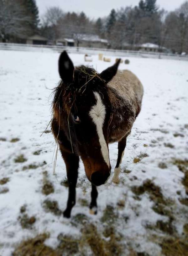
<instances>
[{"instance_id":1,"label":"dark brown horse with white blaze and hay in its mane","mask_svg":"<svg viewBox=\"0 0 188 256\"><path fill-rule=\"evenodd\" d=\"M54 89L51 128L66 165L69 194L63 216L70 218L76 203L79 159L91 182L90 213L97 214L97 186L111 174L108 144L118 142L112 181L119 182L127 136L141 110L143 86L121 59L100 74L91 67L74 67L66 51L60 54L60 82Z\"/></svg>"}]
</instances>

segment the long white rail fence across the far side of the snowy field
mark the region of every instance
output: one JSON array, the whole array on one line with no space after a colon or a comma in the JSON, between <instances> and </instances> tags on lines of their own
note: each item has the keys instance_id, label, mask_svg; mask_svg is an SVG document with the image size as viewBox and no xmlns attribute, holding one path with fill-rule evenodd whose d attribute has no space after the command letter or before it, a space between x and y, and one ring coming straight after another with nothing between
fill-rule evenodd
<instances>
[{"instance_id":1,"label":"long white rail fence across the far side of the snowy field","mask_svg":"<svg viewBox=\"0 0 188 256\"><path fill-rule=\"evenodd\" d=\"M142 57L142 58L167 58L188 60L188 55L178 55L171 53L154 53L144 51L125 51L103 48L84 48L84 47L65 47L57 45L33 45L33 44L15 44L15 43L0 43L0 50L12 51L39 51L39 52L62 52L66 50L68 53L82 54L98 54L103 53L107 56L117 57Z\"/></svg>"}]
</instances>

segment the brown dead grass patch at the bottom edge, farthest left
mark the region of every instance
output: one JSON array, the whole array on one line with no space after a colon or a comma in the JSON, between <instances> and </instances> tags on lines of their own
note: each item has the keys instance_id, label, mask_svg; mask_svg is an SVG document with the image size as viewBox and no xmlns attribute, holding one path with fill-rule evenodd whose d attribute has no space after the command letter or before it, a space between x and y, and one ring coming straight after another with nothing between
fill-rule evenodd
<instances>
[{"instance_id":1,"label":"brown dead grass patch at the bottom edge, farthest left","mask_svg":"<svg viewBox=\"0 0 188 256\"><path fill-rule=\"evenodd\" d=\"M44 241L49 238L48 233L40 234L34 238L30 238L21 242L14 250L13 256L60 256L54 249L46 246Z\"/></svg>"}]
</instances>

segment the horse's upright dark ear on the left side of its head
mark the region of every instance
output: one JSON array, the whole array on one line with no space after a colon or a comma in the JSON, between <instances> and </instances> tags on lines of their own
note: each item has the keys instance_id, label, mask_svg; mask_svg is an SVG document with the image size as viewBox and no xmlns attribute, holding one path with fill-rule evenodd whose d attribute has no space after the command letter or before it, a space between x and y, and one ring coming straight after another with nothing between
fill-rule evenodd
<instances>
[{"instance_id":1,"label":"horse's upright dark ear on the left side of its head","mask_svg":"<svg viewBox=\"0 0 188 256\"><path fill-rule=\"evenodd\" d=\"M59 74L63 82L73 81L74 65L66 51L62 52L59 58Z\"/></svg>"}]
</instances>

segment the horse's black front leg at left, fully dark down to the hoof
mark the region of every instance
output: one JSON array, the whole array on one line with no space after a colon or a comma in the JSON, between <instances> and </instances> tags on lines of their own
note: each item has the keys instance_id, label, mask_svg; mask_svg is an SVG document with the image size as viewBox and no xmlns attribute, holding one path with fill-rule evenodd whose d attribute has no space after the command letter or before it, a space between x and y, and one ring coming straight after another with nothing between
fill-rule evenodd
<instances>
[{"instance_id":1,"label":"horse's black front leg at left, fully dark down to the hoof","mask_svg":"<svg viewBox=\"0 0 188 256\"><path fill-rule=\"evenodd\" d=\"M66 164L67 180L69 184L67 207L63 212L63 216L70 218L71 210L76 203L76 182L78 178L79 156L67 153L61 147L60 150Z\"/></svg>"}]
</instances>

